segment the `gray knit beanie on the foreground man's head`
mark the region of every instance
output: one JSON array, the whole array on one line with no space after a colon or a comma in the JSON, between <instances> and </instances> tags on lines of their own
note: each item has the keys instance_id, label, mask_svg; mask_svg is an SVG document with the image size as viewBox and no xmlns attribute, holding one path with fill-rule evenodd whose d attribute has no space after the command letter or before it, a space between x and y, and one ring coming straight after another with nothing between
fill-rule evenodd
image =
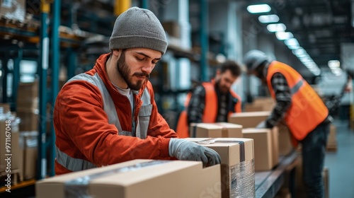
<instances>
[{"instance_id":1,"label":"gray knit beanie on the foreground man's head","mask_svg":"<svg viewBox=\"0 0 354 198\"><path fill-rule=\"evenodd\" d=\"M115 20L110 50L147 48L164 54L167 48L164 28L152 11L132 7Z\"/></svg>"}]
</instances>

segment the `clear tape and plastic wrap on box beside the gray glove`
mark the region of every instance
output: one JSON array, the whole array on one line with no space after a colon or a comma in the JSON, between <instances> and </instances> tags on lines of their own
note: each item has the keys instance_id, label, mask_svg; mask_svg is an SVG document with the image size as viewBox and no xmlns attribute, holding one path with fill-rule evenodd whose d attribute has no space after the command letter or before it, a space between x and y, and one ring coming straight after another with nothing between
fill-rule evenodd
<instances>
[{"instance_id":1,"label":"clear tape and plastic wrap on box beside the gray glove","mask_svg":"<svg viewBox=\"0 0 354 198\"><path fill-rule=\"evenodd\" d=\"M254 160L245 161L244 141L216 140L215 138L197 141L198 144L237 143L240 145L240 163L230 167L230 197L256 197Z\"/></svg>"}]
</instances>

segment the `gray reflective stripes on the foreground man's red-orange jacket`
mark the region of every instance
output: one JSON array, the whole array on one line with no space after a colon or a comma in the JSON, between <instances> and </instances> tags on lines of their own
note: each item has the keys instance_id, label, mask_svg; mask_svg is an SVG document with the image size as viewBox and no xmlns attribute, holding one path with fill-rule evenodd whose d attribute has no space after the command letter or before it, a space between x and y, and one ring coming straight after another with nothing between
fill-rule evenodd
<instances>
[{"instance_id":1,"label":"gray reflective stripes on the foreground man's red-orange jacket","mask_svg":"<svg viewBox=\"0 0 354 198\"><path fill-rule=\"evenodd\" d=\"M108 123L115 124L115 127L117 127L118 129L119 135L132 136L132 132L127 132L122 130L122 126L120 125L118 114L117 111L115 110L115 105L113 103L113 100L110 97L110 93L105 87L105 83L97 73L93 76L89 74L79 74L69 79L67 83L70 83L72 81L87 81L93 84L94 86L96 86L101 91L101 97L103 98L103 110L107 114ZM138 92L136 91L136 93ZM142 100L142 107L140 107L139 110L136 136L139 137L140 139L146 139L147 129L149 127L149 122L150 122L150 115L152 115L151 96L147 88L144 89L141 100ZM79 170L85 170L85 169L96 167L96 165L94 165L89 161L79 159L79 158L72 158L71 156L68 156L67 153L60 151L59 148L56 148L56 150L57 150L56 152L57 163L64 166L68 170L79 171Z\"/></svg>"}]
</instances>

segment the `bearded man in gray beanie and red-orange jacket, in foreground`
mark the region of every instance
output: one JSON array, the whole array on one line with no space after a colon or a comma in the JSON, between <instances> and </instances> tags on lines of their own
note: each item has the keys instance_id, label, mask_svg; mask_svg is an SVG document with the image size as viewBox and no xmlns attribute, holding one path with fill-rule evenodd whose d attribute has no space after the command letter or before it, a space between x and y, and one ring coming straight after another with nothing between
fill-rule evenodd
<instances>
[{"instance_id":1,"label":"bearded man in gray beanie and red-orange jacket, in foreground","mask_svg":"<svg viewBox=\"0 0 354 198\"><path fill-rule=\"evenodd\" d=\"M145 159L220 163L212 149L178 139L159 114L149 74L166 52L154 13L129 8L113 28L109 47L93 69L71 78L57 95L57 175Z\"/></svg>"}]
</instances>

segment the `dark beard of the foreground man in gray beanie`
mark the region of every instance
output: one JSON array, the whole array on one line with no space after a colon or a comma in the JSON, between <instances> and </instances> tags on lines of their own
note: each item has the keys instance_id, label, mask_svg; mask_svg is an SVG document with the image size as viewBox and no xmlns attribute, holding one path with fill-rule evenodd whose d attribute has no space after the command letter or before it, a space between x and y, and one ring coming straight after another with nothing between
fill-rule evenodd
<instances>
[{"instance_id":1,"label":"dark beard of the foreground man in gray beanie","mask_svg":"<svg viewBox=\"0 0 354 198\"><path fill-rule=\"evenodd\" d=\"M117 70L120 73L120 76L122 76L123 80L125 83L127 83L128 88L138 91L140 88L142 88L142 83L144 83L144 80L137 81L134 83L132 81L132 76L139 76L139 77L147 77L149 78L149 74L145 72L135 72L130 76L130 66L127 65L125 62L125 51L122 51L122 54L120 55L118 62L117 62ZM119 76L119 75L118 75Z\"/></svg>"}]
</instances>

